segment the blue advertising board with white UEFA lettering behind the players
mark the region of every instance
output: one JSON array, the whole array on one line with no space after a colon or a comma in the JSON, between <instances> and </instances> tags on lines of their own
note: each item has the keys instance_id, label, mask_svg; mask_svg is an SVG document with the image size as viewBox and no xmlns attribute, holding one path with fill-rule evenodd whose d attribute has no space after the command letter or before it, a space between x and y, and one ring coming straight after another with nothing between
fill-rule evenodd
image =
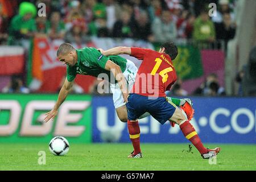
<instances>
[{"instance_id":1,"label":"blue advertising board with white UEFA lettering behind the players","mask_svg":"<svg viewBox=\"0 0 256 182\"><path fill-rule=\"evenodd\" d=\"M256 143L256 98L192 97L195 117L191 120L205 143ZM93 142L130 142L126 123L119 121L112 97L93 97ZM160 125L152 117L139 120L142 142L188 142L179 126Z\"/></svg>"}]
</instances>

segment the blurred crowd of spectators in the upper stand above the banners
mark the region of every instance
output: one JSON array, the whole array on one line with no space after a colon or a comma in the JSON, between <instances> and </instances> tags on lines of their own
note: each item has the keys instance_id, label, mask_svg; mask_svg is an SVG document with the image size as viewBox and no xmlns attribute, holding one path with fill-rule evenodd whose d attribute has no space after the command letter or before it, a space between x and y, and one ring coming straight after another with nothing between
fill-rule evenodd
<instances>
[{"instance_id":1,"label":"blurred crowd of spectators in the upper stand above the banners","mask_svg":"<svg viewBox=\"0 0 256 182\"><path fill-rule=\"evenodd\" d=\"M42 0L30 1L35 5L26 10L30 13L18 11L22 1L2 2L1 44L18 44L17 40L39 35L77 44L88 41L89 36L213 43L227 42L236 33L234 0ZM36 5L41 2L46 4L46 16L39 17ZM218 7L212 19L208 15L210 2ZM200 32L202 26L204 34Z\"/></svg>"}]
</instances>

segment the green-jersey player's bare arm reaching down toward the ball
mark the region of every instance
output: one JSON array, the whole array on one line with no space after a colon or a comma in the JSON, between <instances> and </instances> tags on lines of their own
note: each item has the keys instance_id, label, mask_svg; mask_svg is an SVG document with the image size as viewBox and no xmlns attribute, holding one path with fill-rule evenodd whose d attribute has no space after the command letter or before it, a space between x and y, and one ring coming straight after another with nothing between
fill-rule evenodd
<instances>
[{"instance_id":1,"label":"green-jersey player's bare arm reaching down toward the ball","mask_svg":"<svg viewBox=\"0 0 256 182\"><path fill-rule=\"evenodd\" d=\"M53 107L53 109L45 114L46 117L44 118L44 122L48 122L50 119L54 119L56 117L60 105L65 101L69 92L71 92L72 86L73 86L73 81L69 82L66 78L63 86L60 89L60 93L59 93L57 102L56 102L55 106Z\"/></svg>"}]
</instances>

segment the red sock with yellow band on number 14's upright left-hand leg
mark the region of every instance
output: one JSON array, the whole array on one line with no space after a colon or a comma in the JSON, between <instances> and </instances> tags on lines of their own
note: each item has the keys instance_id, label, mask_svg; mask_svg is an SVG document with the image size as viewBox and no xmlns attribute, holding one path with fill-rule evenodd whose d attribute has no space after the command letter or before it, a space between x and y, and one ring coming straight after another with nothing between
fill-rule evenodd
<instances>
[{"instance_id":1,"label":"red sock with yellow band on number 14's upright left-hand leg","mask_svg":"<svg viewBox=\"0 0 256 182\"><path fill-rule=\"evenodd\" d=\"M141 147L139 144L139 135L141 133L141 130L139 129L139 123L138 123L138 121L130 122L128 120L127 126L128 126L128 130L129 130L131 142L133 143L133 148L134 148L133 154L137 155L137 154L141 153Z\"/></svg>"}]
</instances>

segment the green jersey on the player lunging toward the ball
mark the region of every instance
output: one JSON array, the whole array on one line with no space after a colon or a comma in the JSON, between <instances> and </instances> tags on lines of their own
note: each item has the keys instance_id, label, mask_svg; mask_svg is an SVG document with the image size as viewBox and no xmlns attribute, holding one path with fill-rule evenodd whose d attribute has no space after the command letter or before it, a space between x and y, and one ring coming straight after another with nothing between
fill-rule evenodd
<instances>
[{"instance_id":1,"label":"green jersey on the player lunging toward the ball","mask_svg":"<svg viewBox=\"0 0 256 182\"><path fill-rule=\"evenodd\" d=\"M77 63L73 67L67 65L68 81L73 81L77 74L98 77L101 73L106 73L109 78L108 81L110 82L112 73L105 69L105 65L108 60L119 65L122 72L126 69L126 59L121 56L104 56L100 51L93 47L76 49L76 53Z\"/></svg>"}]
</instances>

